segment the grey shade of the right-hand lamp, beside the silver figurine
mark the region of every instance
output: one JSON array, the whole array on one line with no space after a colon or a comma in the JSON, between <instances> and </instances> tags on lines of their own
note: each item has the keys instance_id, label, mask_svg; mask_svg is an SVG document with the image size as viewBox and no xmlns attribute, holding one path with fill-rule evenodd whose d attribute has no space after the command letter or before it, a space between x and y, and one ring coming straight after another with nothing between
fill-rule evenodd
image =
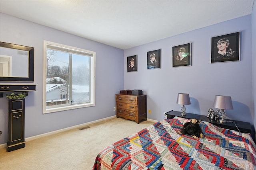
<instances>
[{"instance_id":1,"label":"grey shade of the right-hand lamp, beside the silver figurine","mask_svg":"<svg viewBox=\"0 0 256 170\"><path fill-rule=\"evenodd\" d=\"M215 96L213 107L218 109L233 109L230 96Z\"/></svg>"}]
</instances>

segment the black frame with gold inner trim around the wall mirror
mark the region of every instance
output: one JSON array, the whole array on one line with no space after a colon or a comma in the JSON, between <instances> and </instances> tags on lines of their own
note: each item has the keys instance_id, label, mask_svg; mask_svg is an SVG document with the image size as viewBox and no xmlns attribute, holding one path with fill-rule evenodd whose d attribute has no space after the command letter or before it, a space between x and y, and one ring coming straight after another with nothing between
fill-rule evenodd
<instances>
[{"instance_id":1,"label":"black frame with gold inner trim around the wall mirror","mask_svg":"<svg viewBox=\"0 0 256 170\"><path fill-rule=\"evenodd\" d=\"M27 47L23 45L16 45L11 43L0 42L0 47L6 47L11 49L18 49L28 51L29 64L28 64L28 77L0 77L0 81L3 82L33 82L34 81L34 47Z\"/></svg>"}]
</instances>

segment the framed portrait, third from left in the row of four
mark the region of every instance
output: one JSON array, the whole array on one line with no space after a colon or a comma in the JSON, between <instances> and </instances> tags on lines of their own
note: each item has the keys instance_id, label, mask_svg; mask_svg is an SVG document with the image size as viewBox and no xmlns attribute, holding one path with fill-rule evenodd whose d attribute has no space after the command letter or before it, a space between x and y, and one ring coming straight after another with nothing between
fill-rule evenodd
<instances>
[{"instance_id":1,"label":"framed portrait, third from left in the row of four","mask_svg":"<svg viewBox=\"0 0 256 170\"><path fill-rule=\"evenodd\" d=\"M191 43L172 47L172 67L191 66Z\"/></svg>"}]
</instances>

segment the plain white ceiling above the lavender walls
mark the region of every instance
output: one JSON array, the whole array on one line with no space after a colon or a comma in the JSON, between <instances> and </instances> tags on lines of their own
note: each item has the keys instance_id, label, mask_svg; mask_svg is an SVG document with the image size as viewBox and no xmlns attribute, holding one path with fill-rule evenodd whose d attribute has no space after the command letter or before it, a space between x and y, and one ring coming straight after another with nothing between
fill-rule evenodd
<instances>
[{"instance_id":1,"label":"plain white ceiling above the lavender walls","mask_svg":"<svg viewBox=\"0 0 256 170\"><path fill-rule=\"evenodd\" d=\"M129 49L246 16L252 13L253 3L254 0L0 0L0 12Z\"/></svg>"}]
</instances>

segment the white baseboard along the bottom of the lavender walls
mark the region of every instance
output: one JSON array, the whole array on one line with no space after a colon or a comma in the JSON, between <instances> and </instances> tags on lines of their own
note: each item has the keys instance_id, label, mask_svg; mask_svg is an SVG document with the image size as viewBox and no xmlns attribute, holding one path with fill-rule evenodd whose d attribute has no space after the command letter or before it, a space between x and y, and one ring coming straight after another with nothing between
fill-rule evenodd
<instances>
[{"instance_id":1,"label":"white baseboard along the bottom of the lavender walls","mask_svg":"<svg viewBox=\"0 0 256 170\"><path fill-rule=\"evenodd\" d=\"M41 134L41 135L36 135L36 136L32 136L32 137L25 138L25 141L32 141L32 140L34 140L34 139L38 139L38 138L41 138L41 137L46 137L46 136L49 136L49 135L54 135L54 134L56 134L56 133L68 131L68 130L70 130L70 129L75 129L75 128L78 128L78 127L87 126L87 125L90 125L90 124L93 124L93 123L98 123L98 122L100 122L100 121L104 121L104 120L108 120L108 119L113 119L113 118L115 118L115 117L116 117L116 115L110 116L110 117L106 117L106 118L103 118L103 119L98 119L98 120L95 120L95 121L90 121L90 122L83 123L83 124L80 124L80 125L75 125L75 126L72 126L72 127L67 127L67 128L64 128L64 129L57 130L57 131L52 131L52 132L48 132L48 133L43 133L43 134ZM154 120L154 119L147 119L147 120L148 120L148 121L152 121L152 122L157 122L157 121ZM1 149L1 148L6 148L6 147L7 147L7 144L6 144L6 143L0 145L0 149Z\"/></svg>"}]
</instances>

